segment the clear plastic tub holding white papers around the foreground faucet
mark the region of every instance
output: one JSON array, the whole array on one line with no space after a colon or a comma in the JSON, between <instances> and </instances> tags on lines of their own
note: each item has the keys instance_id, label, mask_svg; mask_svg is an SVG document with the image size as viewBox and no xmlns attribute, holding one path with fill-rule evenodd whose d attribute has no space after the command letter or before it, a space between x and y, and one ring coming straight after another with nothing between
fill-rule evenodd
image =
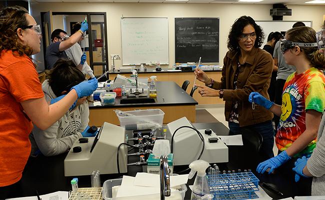
<instances>
[{"instance_id":1,"label":"clear plastic tub holding white papers around the foreground faucet","mask_svg":"<svg viewBox=\"0 0 325 200\"><path fill-rule=\"evenodd\" d=\"M118 186L122 183L122 178L116 178L111 180L106 180L102 185L102 198L105 200L124 200L124 199L132 199L132 200L154 200L160 199L160 193L157 194L150 194L150 195L139 195L139 196L127 196L127 197L115 197L116 192L113 186ZM170 196L166 196L165 199L184 199L185 192L187 191L187 187L185 184L180 185L180 188L177 189L178 191L170 192Z\"/></svg>"}]
</instances>

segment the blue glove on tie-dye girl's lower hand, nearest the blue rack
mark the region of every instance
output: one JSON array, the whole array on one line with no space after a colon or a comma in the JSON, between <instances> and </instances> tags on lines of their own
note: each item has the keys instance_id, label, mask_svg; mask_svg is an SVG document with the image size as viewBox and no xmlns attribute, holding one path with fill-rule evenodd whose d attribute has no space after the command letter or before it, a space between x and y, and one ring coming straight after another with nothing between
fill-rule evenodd
<instances>
[{"instance_id":1,"label":"blue glove on tie-dye girl's lower hand, nearest the blue rack","mask_svg":"<svg viewBox=\"0 0 325 200\"><path fill-rule=\"evenodd\" d=\"M275 157L269 158L268 160L259 163L256 168L256 171L258 173L264 173L267 168L270 168L268 171L268 174L270 174L275 168L281 166L284 162L289 159L291 159L291 157L289 157L286 151L284 150Z\"/></svg>"}]
</instances>

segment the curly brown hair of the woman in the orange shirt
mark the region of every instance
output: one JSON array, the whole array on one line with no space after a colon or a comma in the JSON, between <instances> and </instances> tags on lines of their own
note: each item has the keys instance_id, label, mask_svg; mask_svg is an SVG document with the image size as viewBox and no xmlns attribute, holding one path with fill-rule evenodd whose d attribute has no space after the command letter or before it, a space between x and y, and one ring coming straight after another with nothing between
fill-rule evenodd
<instances>
[{"instance_id":1,"label":"curly brown hair of the woman in the orange shirt","mask_svg":"<svg viewBox=\"0 0 325 200\"><path fill-rule=\"evenodd\" d=\"M12 50L14 53L31 55L32 48L19 42L17 29L28 25L28 11L20 6L4 7L0 10L0 53ZM0 54L1 56L1 54Z\"/></svg>"}]
</instances>

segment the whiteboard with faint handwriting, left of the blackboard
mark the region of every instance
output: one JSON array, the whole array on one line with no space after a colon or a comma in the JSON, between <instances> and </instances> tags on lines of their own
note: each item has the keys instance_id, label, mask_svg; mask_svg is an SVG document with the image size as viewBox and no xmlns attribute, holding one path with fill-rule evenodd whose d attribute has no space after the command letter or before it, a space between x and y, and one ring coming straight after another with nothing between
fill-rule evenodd
<instances>
[{"instance_id":1,"label":"whiteboard with faint handwriting, left of the blackboard","mask_svg":"<svg viewBox=\"0 0 325 200\"><path fill-rule=\"evenodd\" d=\"M122 65L169 63L167 17L121 18Z\"/></svg>"}]
</instances>

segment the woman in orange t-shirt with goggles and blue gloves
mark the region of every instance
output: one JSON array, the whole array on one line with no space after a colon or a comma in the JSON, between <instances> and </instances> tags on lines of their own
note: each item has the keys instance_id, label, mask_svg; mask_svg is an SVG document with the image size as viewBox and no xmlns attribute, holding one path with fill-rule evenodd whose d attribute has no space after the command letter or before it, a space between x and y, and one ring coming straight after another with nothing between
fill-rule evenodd
<instances>
[{"instance_id":1,"label":"woman in orange t-shirt with goggles and blue gloves","mask_svg":"<svg viewBox=\"0 0 325 200\"><path fill-rule=\"evenodd\" d=\"M83 81L48 105L29 57L40 51L40 38L40 26L26 9L14 6L0 10L0 199L17 195L30 153L32 123L46 129L77 98L97 88L96 79Z\"/></svg>"}]
</instances>

